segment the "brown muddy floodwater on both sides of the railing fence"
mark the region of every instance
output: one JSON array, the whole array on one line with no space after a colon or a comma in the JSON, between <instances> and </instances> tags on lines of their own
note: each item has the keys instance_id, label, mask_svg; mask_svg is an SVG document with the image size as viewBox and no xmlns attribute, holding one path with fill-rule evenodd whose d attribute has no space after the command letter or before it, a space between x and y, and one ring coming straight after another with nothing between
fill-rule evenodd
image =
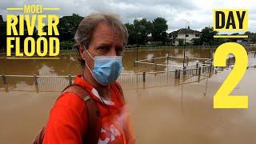
<instances>
[{"instance_id":1,"label":"brown muddy floodwater on both sides of the railing fence","mask_svg":"<svg viewBox=\"0 0 256 144\"><path fill-rule=\"evenodd\" d=\"M179 50L173 51L173 55L182 54ZM192 51L197 50L191 50L190 57L209 57L207 50L199 50L194 54ZM139 59L165 54L166 50L141 51ZM14 61L3 58L0 70L4 74L78 74L80 68L74 57L65 54L56 61ZM249 95L247 110L213 109L213 96L231 69L190 84L124 90L136 142L256 143L256 59L251 56L249 61L245 76L232 92L234 95ZM145 70L143 66L134 68L134 52L127 52L123 62L126 73ZM59 92L0 91L0 143L31 143L34 135L47 121L58 94Z\"/></svg>"}]
</instances>

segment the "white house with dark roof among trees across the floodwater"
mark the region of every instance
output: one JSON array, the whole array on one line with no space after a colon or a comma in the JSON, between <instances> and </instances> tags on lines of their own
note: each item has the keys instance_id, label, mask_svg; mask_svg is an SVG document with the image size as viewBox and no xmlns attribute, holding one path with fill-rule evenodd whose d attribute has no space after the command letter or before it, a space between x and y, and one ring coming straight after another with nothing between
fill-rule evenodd
<instances>
[{"instance_id":1,"label":"white house with dark roof among trees across the floodwater","mask_svg":"<svg viewBox=\"0 0 256 144\"><path fill-rule=\"evenodd\" d=\"M179 29L179 30L173 31L169 34L171 45L173 46L183 45L185 41L185 34L186 34L186 44L193 44L194 39L200 38L201 33L197 30L191 30L190 26L188 26L187 29Z\"/></svg>"}]
</instances>

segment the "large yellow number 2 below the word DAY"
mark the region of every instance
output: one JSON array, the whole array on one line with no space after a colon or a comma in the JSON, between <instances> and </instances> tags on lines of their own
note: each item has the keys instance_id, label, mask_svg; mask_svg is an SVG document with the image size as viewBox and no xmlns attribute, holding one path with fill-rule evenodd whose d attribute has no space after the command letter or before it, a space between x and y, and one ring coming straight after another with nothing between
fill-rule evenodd
<instances>
[{"instance_id":1,"label":"large yellow number 2 below the word DAY","mask_svg":"<svg viewBox=\"0 0 256 144\"><path fill-rule=\"evenodd\" d=\"M248 108L248 96L230 93L246 73L248 56L245 48L235 42L226 42L218 46L214 54L214 66L226 66L226 57L234 54L235 64L229 76L214 95L214 108Z\"/></svg>"}]
</instances>

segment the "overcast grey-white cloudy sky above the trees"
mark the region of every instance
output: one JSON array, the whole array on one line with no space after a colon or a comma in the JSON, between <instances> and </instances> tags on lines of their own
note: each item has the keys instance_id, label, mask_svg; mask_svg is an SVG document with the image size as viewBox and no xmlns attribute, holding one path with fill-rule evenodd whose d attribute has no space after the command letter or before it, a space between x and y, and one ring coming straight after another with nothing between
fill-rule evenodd
<instances>
[{"instance_id":1,"label":"overcast grey-white cloudy sky above the trees","mask_svg":"<svg viewBox=\"0 0 256 144\"><path fill-rule=\"evenodd\" d=\"M6 11L6 7L22 7L24 4L42 4L45 7L59 7L61 10L50 11L60 17L70 14L86 16L94 12L118 14L122 22L133 22L134 18L153 20L166 18L168 32L178 30L190 22L190 28L202 30L213 25L214 9L249 10L249 30L256 32L255 0L0 0L0 14L18 14Z\"/></svg>"}]
</instances>

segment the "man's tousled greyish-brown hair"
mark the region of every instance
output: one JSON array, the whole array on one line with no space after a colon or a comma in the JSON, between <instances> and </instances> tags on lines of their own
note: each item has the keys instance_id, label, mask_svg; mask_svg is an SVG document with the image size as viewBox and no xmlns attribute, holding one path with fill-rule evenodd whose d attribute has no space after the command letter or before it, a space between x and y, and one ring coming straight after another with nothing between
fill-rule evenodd
<instances>
[{"instance_id":1,"label":"man's tousled greyish-brown hair","mask_svg":"<svg viewBox=\"0 0 256 144\"><path fill-rule=\"evenodd\" d=\"M94 34L94 29L98 25L99 22L107 22L112 26L114 30L117 30L123 41L123 46L127 46L128 42L128 30L126 29L126 26L124 26L121 22L121 20L118 18L115 14L102 14L102 13L96 13L96 14L90 14L82 19L80 24L78 25L78 30L76 31L74 35L74 40L76 42L76 49L78 50L79 58L78 60L81 63L81 66L85 66L84 60L81 58L81 55L79 53L79 46L84 45L86 48L90 44L90 38Z\"/></svg>"}]
</instances>

